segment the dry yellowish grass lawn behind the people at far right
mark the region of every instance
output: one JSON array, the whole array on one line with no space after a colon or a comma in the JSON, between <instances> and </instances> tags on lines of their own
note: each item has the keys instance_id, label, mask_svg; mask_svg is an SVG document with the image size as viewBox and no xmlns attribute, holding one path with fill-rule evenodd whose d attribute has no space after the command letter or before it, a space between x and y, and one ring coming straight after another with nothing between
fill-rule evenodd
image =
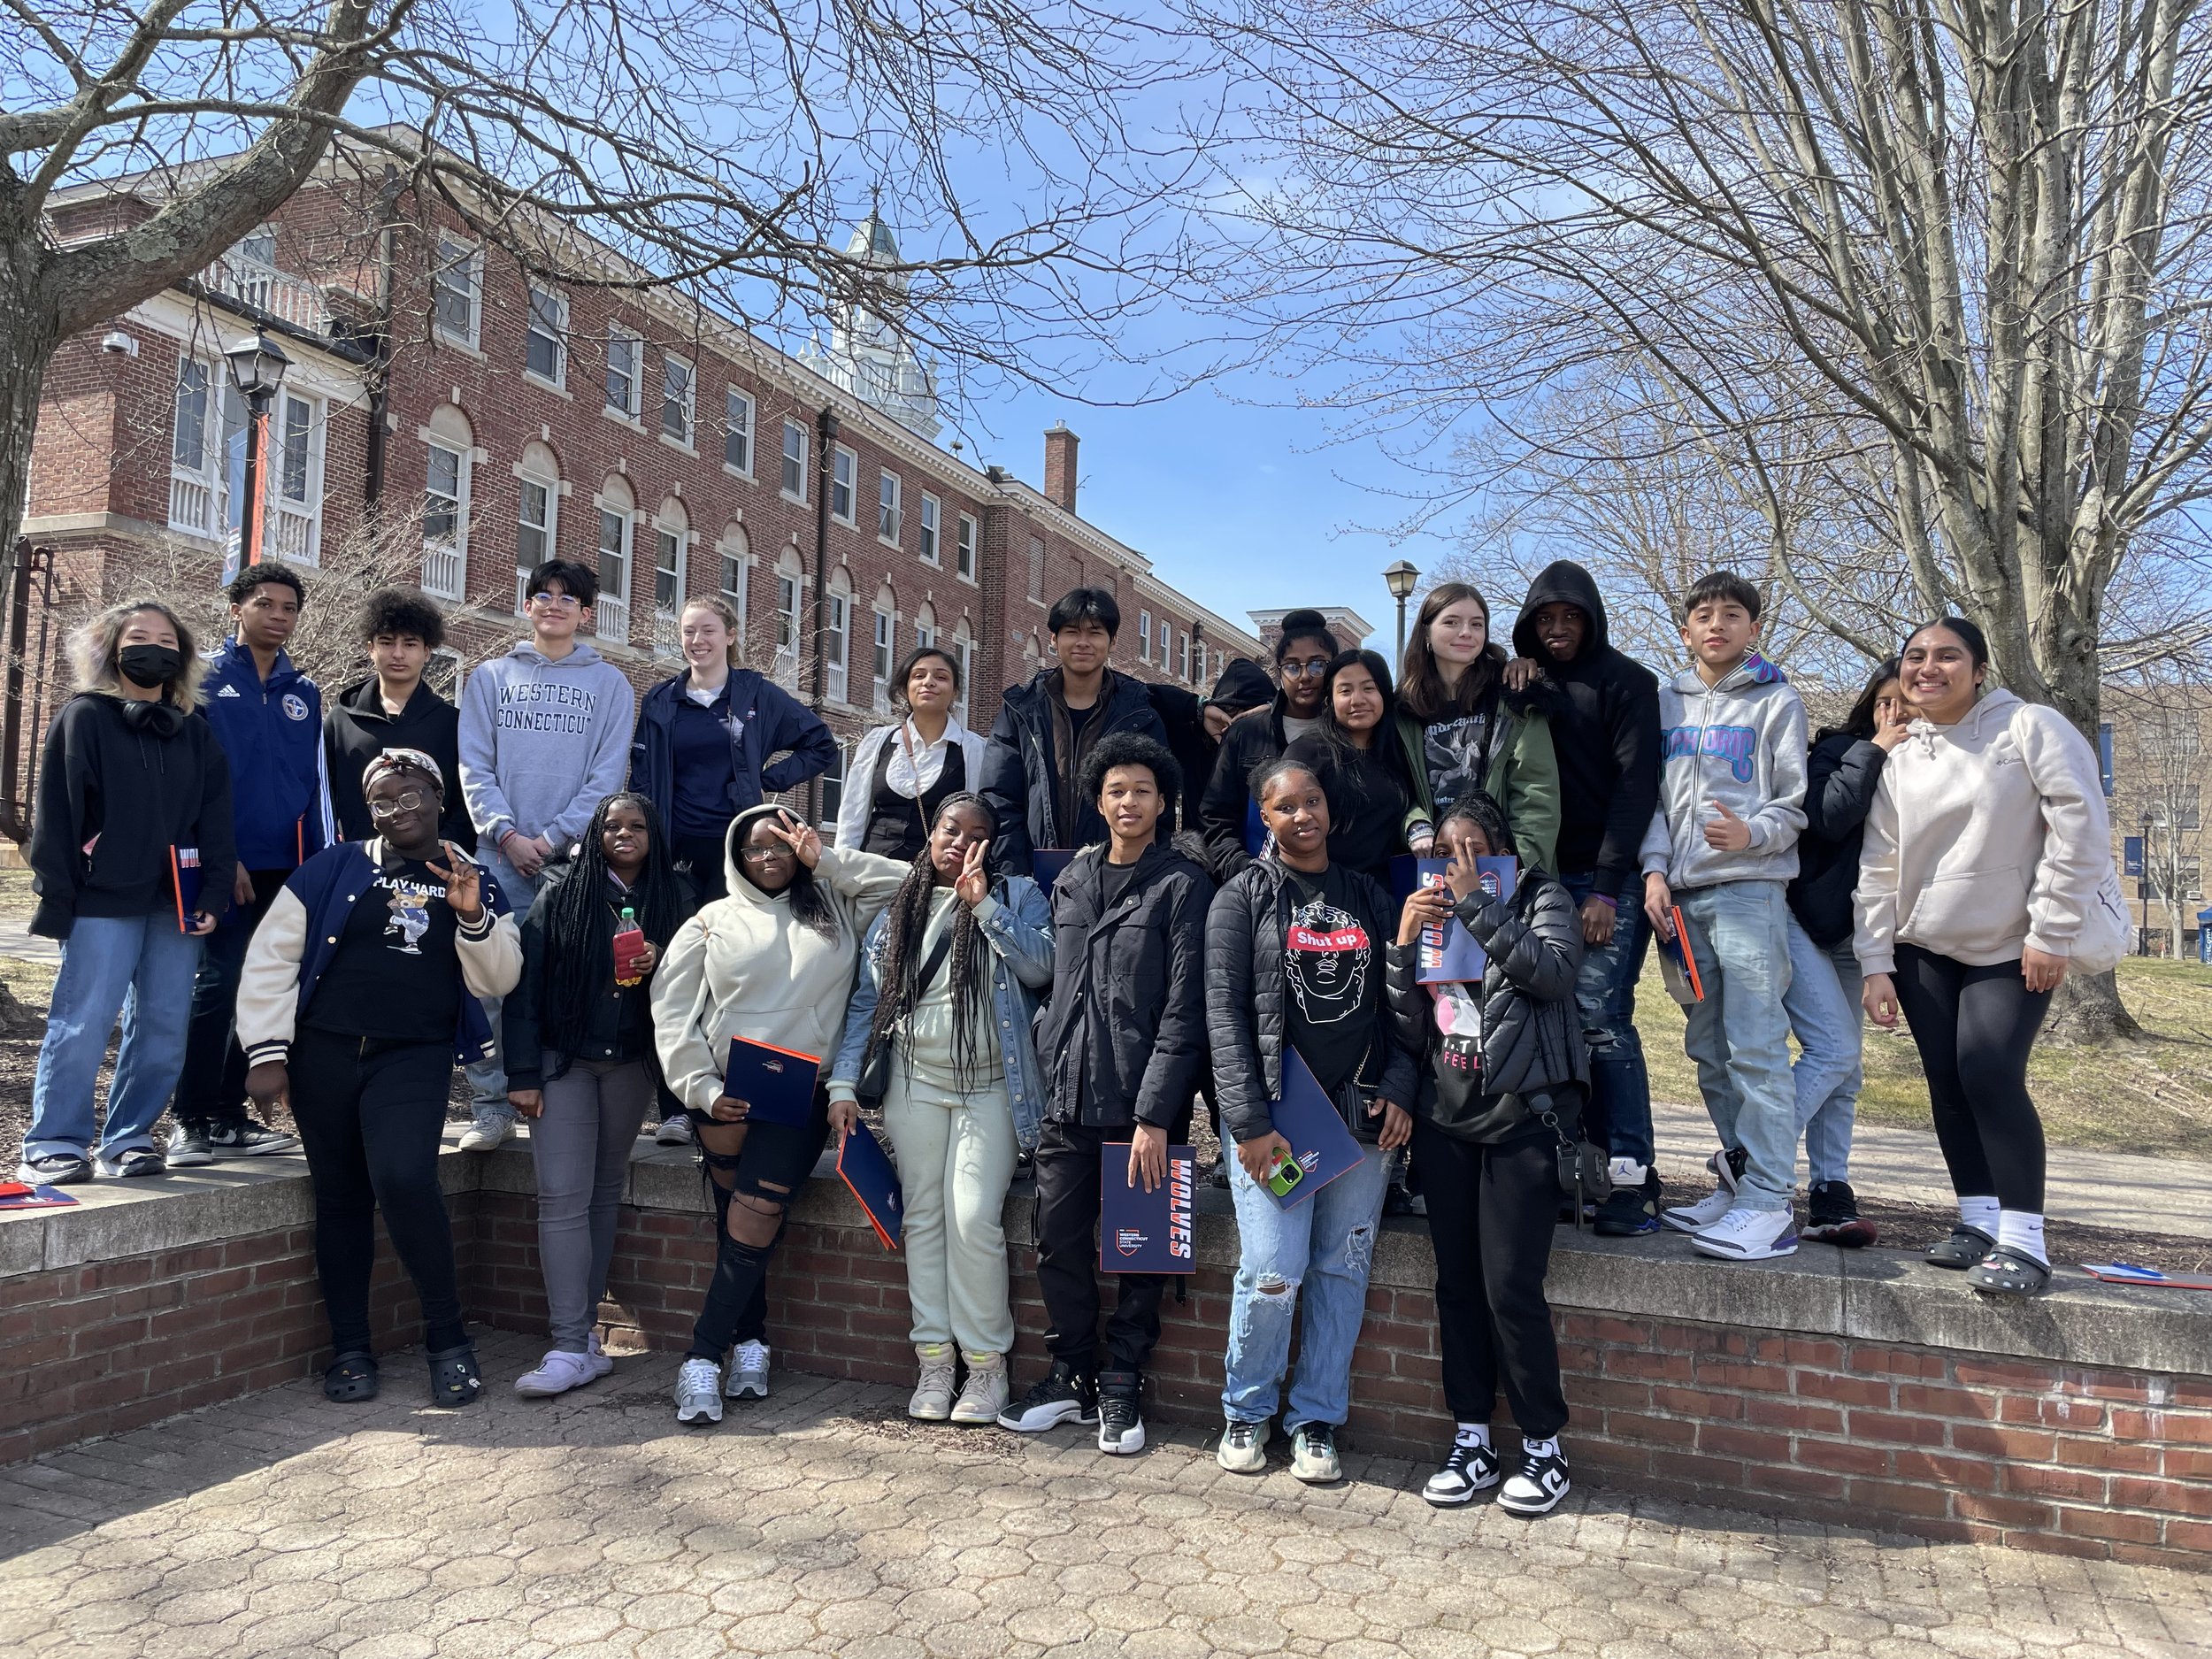
<instances>
[{"instance_id":1,"label":"dry yellowish grass lawn behind the people at far right","mask_svg":"<svg viewBox=\"0 0 2212 1659\"><path fill-rule=\"evenodd\" d=\"M2059 1146L2099 1152L2163 1152L2212 1161L2212 967L2130 958L2119 964L2119 1000L2143 1042L2099 1048L2039 1044L2028 1088L2046 1135ZM1681 1009L1659 982L1659 956L1644 967L1637 1031L1659 1099L1697 1102L1697 1068L1681 1051ZM1900 1024L1867 1026L1867 1088L1858 1113L1869 1124L1929 1128L1920 1055Z\"/></svg>"}]
</instances>

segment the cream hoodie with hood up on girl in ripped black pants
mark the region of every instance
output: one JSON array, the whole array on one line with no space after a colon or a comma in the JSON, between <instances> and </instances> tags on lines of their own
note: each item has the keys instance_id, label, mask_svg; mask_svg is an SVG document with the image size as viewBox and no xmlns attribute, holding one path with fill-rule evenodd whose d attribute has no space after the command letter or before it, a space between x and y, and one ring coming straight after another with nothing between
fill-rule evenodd
<instances>
[{"instance_id":1,"label":"cream hoodie with hood up on girl in ripped black pants","mask_svg":"<svg viewBox=\"0 0 2212 1659\"><path fill-rule=\"evenodd\" d=\"M730 896L692 916L653 975L653 1035L675 1091L703 1113L721 1095L730 1037L821 1055L827 1068L852 1000L852 969L876 911L911 865L823 845L814 880L836 909L836 938L792 920L790 891L770 898L739 869L732 847L772 805L743 812L723 843Z\"/></svg>"}]
</instances>

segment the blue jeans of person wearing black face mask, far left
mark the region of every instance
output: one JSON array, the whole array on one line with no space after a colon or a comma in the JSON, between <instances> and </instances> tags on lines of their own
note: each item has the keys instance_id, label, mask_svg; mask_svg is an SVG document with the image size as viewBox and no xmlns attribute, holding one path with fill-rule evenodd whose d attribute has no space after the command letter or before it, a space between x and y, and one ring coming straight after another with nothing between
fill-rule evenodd
<instances>
[{"instance_id":1,"label":"blue jeans of person wearing black face mask, far left","mask_svg":"<svg viewBox=\"0 0 2212 1659\"><path fill-rule=\"evenodd\" d=\"M124 1040L108 1084L100 1155L119 1157L153 1146L153 1121L184 1071L195 973L199 940L179 933L170 911L77 918L62 945L46 1040L38 1046L24 1157L86 1152L93 1146L93 1088L117 1013Z\"/></svg>"}]
</instances>

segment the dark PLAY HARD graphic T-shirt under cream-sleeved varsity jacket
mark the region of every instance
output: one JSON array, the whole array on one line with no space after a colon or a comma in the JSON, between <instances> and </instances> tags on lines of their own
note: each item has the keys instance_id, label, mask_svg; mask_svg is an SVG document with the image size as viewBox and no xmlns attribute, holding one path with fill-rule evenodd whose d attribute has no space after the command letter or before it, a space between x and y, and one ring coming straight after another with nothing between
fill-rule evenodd
<instances>
[{"instance_id":1,"label":"dark PLAY HARD graphic T-shirt under cream-sleeved varsity jacket","mask_svg":"<svg viewBox=\"0 0 2212 1659\"><path fill-rule=\"evenodd\" d=\"M354 900L303 1024L345 1037L449 1042L460 1020L458 920L427 863L385 865Z\"/></svg>"}]
</instances>

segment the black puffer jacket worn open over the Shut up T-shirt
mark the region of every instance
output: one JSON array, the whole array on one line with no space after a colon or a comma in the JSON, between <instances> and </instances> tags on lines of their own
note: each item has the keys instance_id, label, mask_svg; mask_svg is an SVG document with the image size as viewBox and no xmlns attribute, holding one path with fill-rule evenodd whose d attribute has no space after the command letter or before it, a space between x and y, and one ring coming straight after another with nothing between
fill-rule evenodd
<instances>
[{"instance_id":1,"label":"black puffer jacket worn open over the Shut up T-shirt","mask_svg":"<svg viewBox=\"0 0 2212 1659\"><path fill-rule=\"evenodd\" d=\"M1352 909L1369 940L1396 933L1398 907L1391 896L1358 872L1343 872L1352 885ZM1250 1141L1274 1128L1270 1106L1283 1095L1283 1033L1290 998L1283 971L1283 940L1290 931L1294 887L1274 858L1254 858L1228 887L1214 894L1206 916L1206 1035L1214 1044L1214 1106L1223 1135ZM1398 1042L1383 1006L1380 975L1367 982L1371 1035L1360 1062L1356 1091L1378 1095L1411 1110L1420 1077L1413 1055ZM1352 1093L1352 1091L1347 1091ZM1383 1117L1336 1108L1363 1141L1376 1139Z\"/></svg>"}]
</instances>

